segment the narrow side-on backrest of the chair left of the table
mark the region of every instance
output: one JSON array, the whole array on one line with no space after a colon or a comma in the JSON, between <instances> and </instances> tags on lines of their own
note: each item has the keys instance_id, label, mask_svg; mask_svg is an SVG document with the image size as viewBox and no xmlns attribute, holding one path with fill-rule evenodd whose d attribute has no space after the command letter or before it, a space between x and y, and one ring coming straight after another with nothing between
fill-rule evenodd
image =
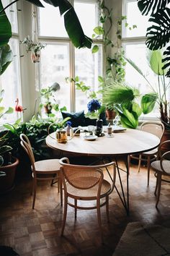
<instances>
[{"instance_id":1,"label":"narrow side-on backrest of the chair left of the table","mask_svg":"<svg viewBox=\"0 0 170 256\"><path fill-rule=\"evenodd\" d=\"M35 171L35 157L34 157L34 153L32 151L32 146L30 144L30 140L28 139L28 137L26 135L24 135L23 133L21 135L19 135L20 140L21 140L21 145L22 148L24 148L24 150L26 151L27 155L30 158L31 164L32 164L32 171Z\"/></svg>"}]
</instances>

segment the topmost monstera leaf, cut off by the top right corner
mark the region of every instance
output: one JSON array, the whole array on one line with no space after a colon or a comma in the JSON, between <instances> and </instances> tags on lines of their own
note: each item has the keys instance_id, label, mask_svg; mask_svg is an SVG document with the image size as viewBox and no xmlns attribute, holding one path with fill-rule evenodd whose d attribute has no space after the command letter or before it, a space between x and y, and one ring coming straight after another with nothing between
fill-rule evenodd
<instances>
[{"instance_id":1,"label":"topmost monstera leaf, cut off by the top right corner","mask_svg":"<svg viewBox=\"0 0 170 256\"><path fill-rule=\"evenodd\" d=\"M143 15L153 14L160 9L165 9L170 0L138 0L138 8Z\"/></svg>"}]
</instances>

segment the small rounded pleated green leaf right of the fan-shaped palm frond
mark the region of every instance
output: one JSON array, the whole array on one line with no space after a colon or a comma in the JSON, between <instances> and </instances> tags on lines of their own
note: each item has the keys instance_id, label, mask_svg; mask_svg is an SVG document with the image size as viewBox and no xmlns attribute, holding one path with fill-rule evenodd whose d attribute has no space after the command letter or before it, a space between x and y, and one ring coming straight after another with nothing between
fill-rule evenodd
<instances>
[{"instance_id":1,"label":"small rounded pleated green leaf right of the fan-shaped palm frond","mask_svg":"<svg viewBox=\"0 0 170 256\"><path fill-rule=\"evenodd\" d=\"M148 114L153 110L157 98L158 95L156 93L147 93L146 95L143 95L140 103L143 114Z\"/></svg>"}]
</instances>

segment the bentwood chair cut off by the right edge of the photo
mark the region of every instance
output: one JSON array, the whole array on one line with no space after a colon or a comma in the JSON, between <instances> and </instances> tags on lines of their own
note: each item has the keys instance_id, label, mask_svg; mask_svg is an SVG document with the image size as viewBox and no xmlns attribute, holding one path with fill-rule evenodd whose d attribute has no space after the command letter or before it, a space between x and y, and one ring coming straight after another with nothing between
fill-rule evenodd
<instances>
[{"instance_id":1,"label":"bentwood chair cut off by the right edge of the photo","mask_svg":"<svg viewBox=\"0 0 170 256\"><path fill-rule=\"evenodd\" d=\"M164 152L165 145L166 148L169 145L169 151ZM170 140L166 140L161 143L158 148L158 158L160 159L151 163L151 167L156 171L156 208L158 207L158 201L161 193L161 182L170 183Z\"/></svg>"}]
</instances>

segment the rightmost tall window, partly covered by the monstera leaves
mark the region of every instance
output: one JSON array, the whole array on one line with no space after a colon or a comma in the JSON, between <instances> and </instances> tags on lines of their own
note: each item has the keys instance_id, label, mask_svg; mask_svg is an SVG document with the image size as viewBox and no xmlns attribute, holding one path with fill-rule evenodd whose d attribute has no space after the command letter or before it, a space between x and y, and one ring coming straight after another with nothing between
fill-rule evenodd
<instances>
[{"instance_id":1,"label":"rightmost tall window, partly covered by the monstera leaves","mask_svg":"<svg viewBox=\"0 0 170 256\"><path fill-rule=\"evenodd\" d=\"M135 64L143 71L143 74L151 82L153 88L156 88L158 81L154 76L151 69L148 67L146 54L147 47L146 41L146 29L148 27L148 17L143 16L138 9L138 2L135 0L123 1L123 14L127 17L129 25L135 24L137 28L129 30L125 25L122 28L122 46L125 49L125 56L133 60ZM145 94L151 91L146 80L135 71L130 64L126 64L125 67L125 80L129 85L133 85L140 90L141 94ZM150 114L143 115L143 119L151 119L159 117L158 106L156 106Z\"/></svg>"}]
</instances>

